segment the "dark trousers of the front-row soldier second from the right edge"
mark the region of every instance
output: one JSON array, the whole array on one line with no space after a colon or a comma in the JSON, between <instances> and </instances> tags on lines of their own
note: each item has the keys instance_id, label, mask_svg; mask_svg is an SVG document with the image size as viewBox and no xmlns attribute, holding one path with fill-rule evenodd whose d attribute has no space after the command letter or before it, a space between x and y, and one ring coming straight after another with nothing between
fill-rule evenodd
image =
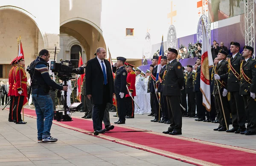
<instances>
[{"instance_id":1,"label":"dark trousers of the front-row soldier second from the right edge","mask_svg":"<svg viewBox=\"0 0 256 166\"><path fill-rule=\"evenodd\" d=\"M244 100L243 97L239 95L239 92L230 92L230 108L233 127L236 129L246 129L246 113L244 107Z\"/></svg>"}]
</instances>

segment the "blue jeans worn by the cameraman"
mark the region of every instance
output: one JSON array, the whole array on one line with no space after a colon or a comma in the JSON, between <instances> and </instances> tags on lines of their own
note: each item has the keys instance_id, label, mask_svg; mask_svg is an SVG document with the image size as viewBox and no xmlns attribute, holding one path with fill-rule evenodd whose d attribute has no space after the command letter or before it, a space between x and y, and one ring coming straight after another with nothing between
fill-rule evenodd
<instances>
[{"instance_id":1,"label":"blue jeans worn by the cameraman","mask_svg":"<svg viewBox=\"0 0 256 166\"><path fill-rule=\"evenodd\" d=\"M32 94L37 116L38 140L51 136L50 130L53 120L52 98L48 95Z\"/></svg>"}]
</instances>

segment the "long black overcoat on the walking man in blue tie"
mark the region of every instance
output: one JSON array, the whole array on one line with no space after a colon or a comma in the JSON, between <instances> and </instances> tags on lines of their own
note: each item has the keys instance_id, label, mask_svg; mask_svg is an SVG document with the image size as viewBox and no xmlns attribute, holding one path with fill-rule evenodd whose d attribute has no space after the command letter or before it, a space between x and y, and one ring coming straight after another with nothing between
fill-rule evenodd
<instances>
[{"instance_id":1,"label":"long black overcoat on the walking man in blue tie","mask_svg":"<svg viewBox=\"0 0 256 166\"><path fill-rule=\"evenodd\" d=\"M92 104L102 104L102 99L107 98L109 103L113 103L113 93L114 90L114 79L111 70L110 63L104 59L104 63L106 65L106 72L108 78L108 87L109 94L108 96L103 96L103 82L104 76L102 72L102 68L99 64L97 56L93 59L90 59L87 62L86 71L85 71L85 86L86 86L86 95L92 95Z\"/></svg>"}]
</instances>

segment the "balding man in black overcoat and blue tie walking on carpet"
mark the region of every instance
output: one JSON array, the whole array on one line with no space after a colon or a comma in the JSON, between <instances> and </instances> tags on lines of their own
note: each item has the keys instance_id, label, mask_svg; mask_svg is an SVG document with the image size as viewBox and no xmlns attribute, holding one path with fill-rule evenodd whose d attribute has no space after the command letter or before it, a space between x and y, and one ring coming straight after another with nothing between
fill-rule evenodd
<instances>
[{"instance_id":1,"label":"balding man in black overcoat and blue tie walking on carpet","mask_svg":"<svg viewBox=\"0 0 256 166\"><path fill-rule=\"evenodd\" d=\"M106 50L97 48L96 57L87 62L85 74L86 95L93 104L94 135L104 133L102 120L107 103L113 103L115 94L113 74L110 63L105 60Z\"/></svg>"}]
</instances>

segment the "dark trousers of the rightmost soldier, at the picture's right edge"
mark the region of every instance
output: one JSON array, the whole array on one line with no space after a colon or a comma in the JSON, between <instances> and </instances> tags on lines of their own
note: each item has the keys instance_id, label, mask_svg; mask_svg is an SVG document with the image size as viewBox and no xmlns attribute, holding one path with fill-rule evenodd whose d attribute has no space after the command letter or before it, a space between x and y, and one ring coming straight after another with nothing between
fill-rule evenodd
<instances>
[{"instance_id":1,"label":"dark trousers of the rightmost soldier, at the picture's right edge","mask_svg":"<svg viewBox=\"0 0 256 166\"><path fill-rule=\"evenodd\" d=\"M244 106L248 108L249 119L247 124L247 131L256 132L256 101L250 95L243 95Z\"/></svg>"}]
</instances>

